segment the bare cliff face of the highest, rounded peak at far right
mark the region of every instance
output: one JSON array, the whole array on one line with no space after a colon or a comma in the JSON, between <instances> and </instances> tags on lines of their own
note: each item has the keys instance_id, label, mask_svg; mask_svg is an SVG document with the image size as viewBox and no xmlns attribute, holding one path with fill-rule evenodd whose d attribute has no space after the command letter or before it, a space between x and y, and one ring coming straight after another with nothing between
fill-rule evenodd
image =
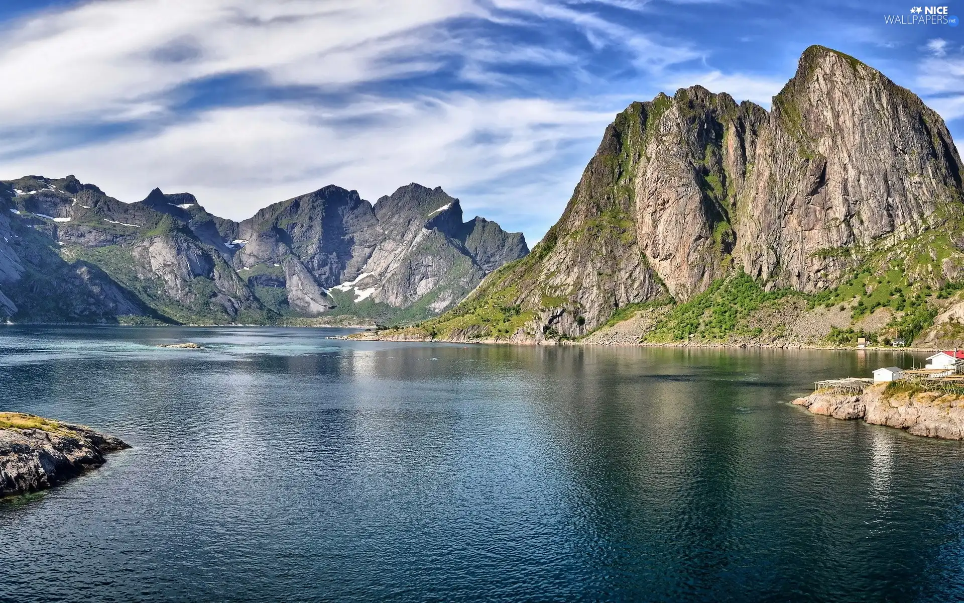
<instances>
[{"instance_id":1,"label":"bare cliff face of the highest, rounded peak at far right","mask_svg":"<svg viewBox=\"0 0 964 603\"><path fill-rule=\"evenodd\" d=\"M961 160L940 116L825 48L809 48L774 97L753 157L739 262L778 285L836 285L848 258L961 215Z\"/></svg>"}]
</instances>

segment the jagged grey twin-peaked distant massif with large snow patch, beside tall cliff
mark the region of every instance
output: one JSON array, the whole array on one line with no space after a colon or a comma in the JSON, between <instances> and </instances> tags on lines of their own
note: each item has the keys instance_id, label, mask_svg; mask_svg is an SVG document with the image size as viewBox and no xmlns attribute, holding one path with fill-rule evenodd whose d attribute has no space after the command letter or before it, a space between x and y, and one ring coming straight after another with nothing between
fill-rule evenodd
<instances>
[{"instance_id":1,"label":"jagged grey twin-peaked distant massif with large snow patch, beside tall cliff","mask_svg":"<svg viewBox=\"0 0 964 603\"><path fill-rule=\"evenodd\" d=\"M332 290L341 303L409 308L421 301L441 312L495 267L528 253L521 233L482 218L463 223L457 199L418 184L375 206L327 186L258 211L237 233L243 247L234 267L283 265L288 303L308 315L335 307Z\"/></svg>"}]
</instances>

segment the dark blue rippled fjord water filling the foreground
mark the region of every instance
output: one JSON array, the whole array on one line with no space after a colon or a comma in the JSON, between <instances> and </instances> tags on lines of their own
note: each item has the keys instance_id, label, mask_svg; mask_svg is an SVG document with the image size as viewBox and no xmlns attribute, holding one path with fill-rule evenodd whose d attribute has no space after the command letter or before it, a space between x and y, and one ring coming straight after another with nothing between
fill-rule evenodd
<instances>
[{"instance_id":1,"label":"dark blue rippled fjord water filling the foreground","mask_svg":"<svg viewBox=\"0 0 964 603\"><path fill-rule=\"evenodd\" d=\"M964 597L964 448L786 403L924 354L343 332L0 327L0 409L134 446L0 503L0 600Z\"/></svg>"}]
</instances>

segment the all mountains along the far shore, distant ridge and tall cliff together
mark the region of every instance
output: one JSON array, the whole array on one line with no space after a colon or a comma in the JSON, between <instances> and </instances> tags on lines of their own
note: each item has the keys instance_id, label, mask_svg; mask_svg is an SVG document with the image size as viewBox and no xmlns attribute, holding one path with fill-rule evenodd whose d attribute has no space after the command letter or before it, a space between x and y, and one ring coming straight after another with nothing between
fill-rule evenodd
<instances>
[{"instance_id":1,"label":"all mountains along the far shore, distant ridge and tall cliff together","mask_svg":"<svg viewBox=\"0 0 964 603\"><path fill-rule=\"evenodd\" d=\"M73 177L0 182L0 317L964 344L962 168L918 96L811 46L768 111L700 86L631 103L531 254L417 184L375 204L327 186L234 222L187 193L124 204Z\"/></svg>"}]
</instances>

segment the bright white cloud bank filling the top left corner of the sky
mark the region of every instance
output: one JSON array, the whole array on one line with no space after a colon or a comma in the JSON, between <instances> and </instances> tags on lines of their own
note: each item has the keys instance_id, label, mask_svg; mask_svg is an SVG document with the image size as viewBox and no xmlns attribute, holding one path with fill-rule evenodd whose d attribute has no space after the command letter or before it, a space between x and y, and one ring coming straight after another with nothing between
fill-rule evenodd
<instances>
[{"instance_id":1,"label":"bright white cloud bank filling the top left corner of the sky","mask_svg":"<svg viewBox=\"0 0 964 603\"><path fill-rule=\"evenodd\" d=\"M399 60L413 32L477 12L469 0L127 0L41 14L0 41L0 125L137 118L147 98L219 74L334 87L430 70ZM172 44L189 52L166 60Z\"/></svg>"}]
</instances>

